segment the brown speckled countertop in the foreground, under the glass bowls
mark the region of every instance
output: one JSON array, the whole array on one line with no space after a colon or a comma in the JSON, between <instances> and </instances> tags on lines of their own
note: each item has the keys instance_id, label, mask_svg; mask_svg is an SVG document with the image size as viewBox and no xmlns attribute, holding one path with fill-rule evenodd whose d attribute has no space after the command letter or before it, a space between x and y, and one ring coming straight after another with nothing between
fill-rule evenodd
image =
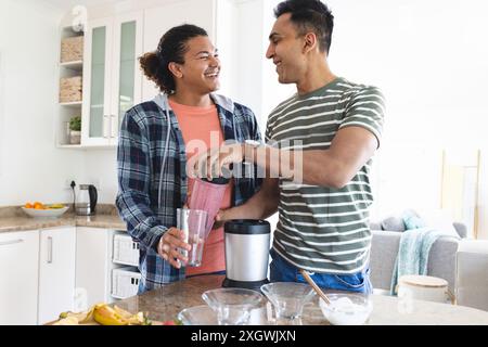
<instances>
[{"instance_id":1,"label":"brown speckled countertop in the foreground, under the glass bowls","mask_svg":"<svg viewBox=\"0 0 488 347\"><path fill-rule=\"evenodd\" d=\"M162 288L116 301L115 305L131 312L149 312L155 321L177 318L183 308L204 305L202 293L221 286L223 275L194 277ZM449 304L412 300L406 305L394 296L372 295L373 312L369 325L488 325L488 312ZM329 325L319 307L319 297L307 304L304 325Z\"/></svg>"}]
</instances>

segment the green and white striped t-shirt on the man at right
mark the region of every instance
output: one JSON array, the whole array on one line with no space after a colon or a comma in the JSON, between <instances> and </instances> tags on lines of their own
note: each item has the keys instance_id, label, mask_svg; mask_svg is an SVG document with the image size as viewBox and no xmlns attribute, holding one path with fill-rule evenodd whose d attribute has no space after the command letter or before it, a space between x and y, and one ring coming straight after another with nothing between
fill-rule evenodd
<instances>
[{"instance_id":1,"label":"green and white striped t-shirt on the man at right","mask_svg":"<svg viewBox=\"0 0 488 347\"><path fill-rule=\"evenodd\" d=\"M266 141L277 142L281 149L326 150L339 129L355 126L371 131L380 143L383 117L384 100L377 88L336 78L274 108L268 118ZM371 246L370 170L371 160L342 189L280 178L274 250L309 271L361 271Z\"/></svg>"}]
</instances>

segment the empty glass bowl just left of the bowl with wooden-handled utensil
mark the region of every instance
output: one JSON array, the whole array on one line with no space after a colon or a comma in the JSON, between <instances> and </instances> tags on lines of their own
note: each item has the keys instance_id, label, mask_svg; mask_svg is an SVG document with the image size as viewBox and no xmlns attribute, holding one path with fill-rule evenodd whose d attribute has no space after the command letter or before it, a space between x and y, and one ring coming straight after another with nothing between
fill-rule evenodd
<instances>
[{"instance_id":1,"label":"empty glass bowl just left of the bowl with wooden-handled utensil","mask_svg":"<svg viewBox=\"0 0 488 347\"><path fill-rule=\"evenodd\" d=\"M277 324L300 324L304 305L316 292L304 283L274 282L261 286L261 292L268 297L277 314Z\"/></svg>"}]
</instances>

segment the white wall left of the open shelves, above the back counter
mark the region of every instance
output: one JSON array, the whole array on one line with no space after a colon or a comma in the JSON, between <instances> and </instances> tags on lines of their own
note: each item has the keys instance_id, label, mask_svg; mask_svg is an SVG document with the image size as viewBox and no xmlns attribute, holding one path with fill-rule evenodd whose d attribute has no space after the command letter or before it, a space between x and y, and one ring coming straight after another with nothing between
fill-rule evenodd
<instances>
[{"instance_id":1,"label":"white wall left of the open shelves, above the back counter","mask_svg":"<svg viewBox=\"0 0 488 347\"><path fill-rule=\"evenodd\" d=\"M39 1L0 0L0 206L70 201L65 180L84 167L82 153L54 145L60 15Z\"/></svg>"}]
</instances>

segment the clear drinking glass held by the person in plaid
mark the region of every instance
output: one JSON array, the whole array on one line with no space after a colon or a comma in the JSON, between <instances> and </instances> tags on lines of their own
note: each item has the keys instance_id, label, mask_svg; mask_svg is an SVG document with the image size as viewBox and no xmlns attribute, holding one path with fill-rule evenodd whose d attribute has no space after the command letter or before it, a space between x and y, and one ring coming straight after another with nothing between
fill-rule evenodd
<instances>
[{"instance_id":1,"label":"clear drinking glass held by the person in plaid","mask_svg":"<svg viewBox=\"0 0 488 347\"><path fill-rule=\"evenodd\" d=\"M201 209L178 208L177 228L184 231L184 242L190 244L190 250L180 249L188 257L188 267L200 267L205 244L205 224L207 213Z\"/></svg>"}]
</instances>

